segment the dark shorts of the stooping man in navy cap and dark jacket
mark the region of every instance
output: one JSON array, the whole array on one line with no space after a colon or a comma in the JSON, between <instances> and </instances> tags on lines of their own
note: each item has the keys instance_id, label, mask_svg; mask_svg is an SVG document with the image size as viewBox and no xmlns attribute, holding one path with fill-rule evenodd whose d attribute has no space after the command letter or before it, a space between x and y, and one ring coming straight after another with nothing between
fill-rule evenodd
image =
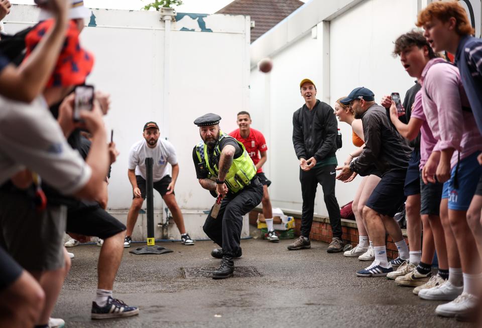
<instances>
[{"instance_id":1,"label":"dark shorts of the stooping man in navy cap and dark jacket","mask_svg":"<svg viewBox=\"0 0 482 328\"><path fill-rule=\"evenodd\" d=\"M406 199L403 193L406 174L406 170L386 172L365 205L381 215L393 217Z\"/></svg>"}]
</instances>

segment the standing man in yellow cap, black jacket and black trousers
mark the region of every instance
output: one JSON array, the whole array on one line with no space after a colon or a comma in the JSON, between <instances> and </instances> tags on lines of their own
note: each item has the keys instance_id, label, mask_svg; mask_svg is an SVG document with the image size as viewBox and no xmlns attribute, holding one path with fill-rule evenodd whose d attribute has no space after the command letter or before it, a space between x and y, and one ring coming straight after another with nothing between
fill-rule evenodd
<instances>
[{"instance_id":1,"label":"standing man in yellow cap, black jacket and black trousers","mask_svg":"<svg viewBox=\"0 0 482 328\"><path fill-rule=\"evenodd\" d=\"M293 146L300 160L300 182L303 197L301 236L288 246L289 250L311 248L310 231L318 183L328 209L333 239L327 252L341 252L340 207L335 197L335 151L338 123L333 108L316 99L315 83L305 78L300 82L305 104L293 114Z\"/></svg>"}]
</instances>

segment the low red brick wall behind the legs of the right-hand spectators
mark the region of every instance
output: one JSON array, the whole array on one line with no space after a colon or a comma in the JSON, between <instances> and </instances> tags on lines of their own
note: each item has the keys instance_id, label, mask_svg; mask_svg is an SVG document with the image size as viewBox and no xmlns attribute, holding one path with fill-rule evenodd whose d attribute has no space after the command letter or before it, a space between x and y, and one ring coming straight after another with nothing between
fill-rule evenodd
<instances>
[{"instance_id":1,"label":"low red brick wall behind the legs of the right-hand spectators","mask_svg":"<svg viewBox=\"0 0 482 328\"><path fill-rule=\"evenodd\" d=\"M256 225L258 213L261 209L254 209L250 213L250 224ZM295 218L295 235L300 235L301 228L301 215L297 212L285 212L285 215L293 216ZM341 219L341 232L343 233L342 239L345 244L351 244L355 247L358 244L358 229L356 222L353 220ZM408 245L408 239L405 229L402 229L403 236ZM317 240L325 243L331 243L333 234L331 232L330 220L326 216L315 215L313 217L313 225L311 226L310 239ZM397 246L390 236L386 237L387 244L387 256L389 258L396 258L398 256Z\"/></svg>"}]
</instances>

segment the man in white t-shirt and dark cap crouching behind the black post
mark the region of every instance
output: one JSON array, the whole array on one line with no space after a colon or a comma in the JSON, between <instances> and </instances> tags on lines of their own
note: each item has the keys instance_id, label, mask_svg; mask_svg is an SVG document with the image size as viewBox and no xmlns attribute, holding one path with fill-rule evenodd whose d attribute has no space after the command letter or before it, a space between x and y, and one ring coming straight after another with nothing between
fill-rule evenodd
<instances>
[{"instance_id":1,"label":"man in white t-shirt and dark cap crouching behind the black post","mask_svg":"<svg viewBox=\"0 0 482 328\"><path fill-rule=\"evenodd\" d=\"M127 215L124 247L131 247L132 231L146 198L146 158L148 157L154 159L152 169L154 189L161 194L171 211L174 222L181 233L181 242L184 245L194 245L194 241L186 233L184 218L174 196L174 185L179 174L176 150L169 141L159 139L159 126L156 122L148 122L144 125L143 137L144 140L135 143L129 152L128 176L132 185L133 200ZM172 166L172 178L169 176L168 163Z\"/></svg>"}]
</instances>

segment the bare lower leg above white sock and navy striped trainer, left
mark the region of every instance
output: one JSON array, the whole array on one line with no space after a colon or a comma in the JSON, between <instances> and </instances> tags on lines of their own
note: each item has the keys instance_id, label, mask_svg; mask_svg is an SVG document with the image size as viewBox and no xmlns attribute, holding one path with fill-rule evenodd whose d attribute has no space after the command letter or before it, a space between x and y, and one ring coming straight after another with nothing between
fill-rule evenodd
<instances>
[{"instance_id":1,"label":"bare lower leg above white sock and navy striped trainer, left","mask_svg":"<svg viewBox=\"0 0 482 328\"><path fill-rule=\"evenodd\" d=\"M99 262L97 265L98 285L97 288L112 290L115 274L121 265L124 249L124 232L104 240L100 249Z\"/></svg>"}]
</instances>

